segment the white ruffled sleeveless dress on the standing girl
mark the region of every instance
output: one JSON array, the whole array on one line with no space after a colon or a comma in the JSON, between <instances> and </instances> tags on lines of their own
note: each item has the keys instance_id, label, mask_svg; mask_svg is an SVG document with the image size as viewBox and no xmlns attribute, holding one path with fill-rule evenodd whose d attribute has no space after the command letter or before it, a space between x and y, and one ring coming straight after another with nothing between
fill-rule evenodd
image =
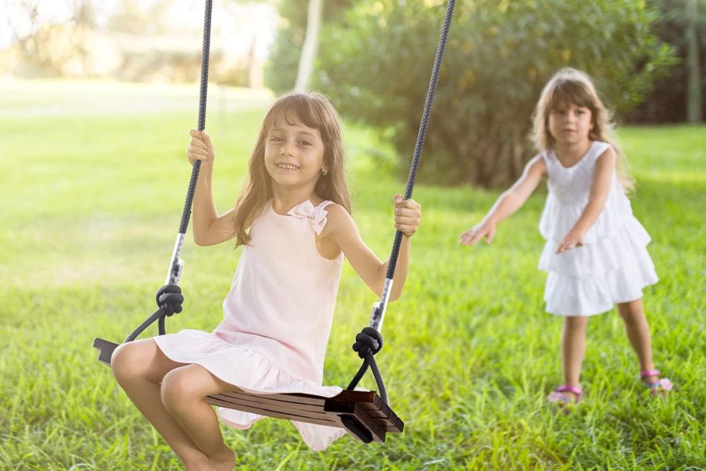
<instances>
[{"instance_id":1,"label":"white ruffled sleeveless dress on the standing girl","mask_svg":"<svg viewBox=\"0 0 706 471\"><path fill-rule=\"evenodd\" d=\"M642 289L657 282L646 248L650 235L633 216L615 172L604 209L584 234L584 245L556 254L583 213L596 161L609 148L609 143L594 141L573 167L563 167L553 150L542 153L549 194L539 221L539 232L546 239L539 269L548 272L544 300L550 314L601 314L615 303L640 299Z\"/></svg>"}]
</instances>

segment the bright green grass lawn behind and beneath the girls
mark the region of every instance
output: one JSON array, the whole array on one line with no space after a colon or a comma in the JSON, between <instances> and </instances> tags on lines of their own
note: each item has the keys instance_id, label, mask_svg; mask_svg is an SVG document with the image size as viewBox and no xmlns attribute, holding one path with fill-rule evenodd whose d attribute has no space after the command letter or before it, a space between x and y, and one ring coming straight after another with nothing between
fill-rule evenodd
<instances>
[{"instance_id":1,"label":"bright green grass lawn behind and beneath the girls","mask_svg":"<svg viewBox=\"0 0 706 471\"><path fill-rule=\"evenodd\" d=\"M144 114L113 114L111 103L143 103L154 90L0 84L0 469L180 469L90 345L95 336L121 340L154 309L190 174L184 148L196 105L184 97L192 88L160 90L164 105ZM232 106L214 107L207 120L221 210L237 196L267 101L231 92ZM59 96L75 106L47 114ZM543 311L536 268L544 195L503 223L491 246L468 249L457 235L498 191L419 186L424 217L412 267L404 296L388 309L378 355L405 433L385 446L345 438L316 453L286 422L225 427L239 469L705 469L706 128L619 134L638 179L633 208L652 235L661 278L645 306L655 361L675 383L671 397L645 395L620 319L604 314L589 324L585 403L554 415L544 397L561 381L561 319ZM347 125L345 135L354 217L385 258L392 195L403 183L376 172L371 156L390 150L373 133ZM215 326L239 254L229 244L197 247L189 234L186 311L169 319L169 331ZM357 369L350 344L375 301L346 266L326 383L345 384Z\"/></svg>"}]
</instances>

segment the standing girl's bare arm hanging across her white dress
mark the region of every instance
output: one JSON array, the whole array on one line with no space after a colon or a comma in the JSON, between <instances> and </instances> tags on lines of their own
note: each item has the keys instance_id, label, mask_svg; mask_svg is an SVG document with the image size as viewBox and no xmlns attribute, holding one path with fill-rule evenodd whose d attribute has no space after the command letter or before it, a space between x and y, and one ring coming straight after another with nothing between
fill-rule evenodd
<instances>
[{"instance_id":1,"label":"standing girl's bare arm hanging across her white dress","mask_svg":"<svg viewBox=\"0 0 706 471\"><path fill-rule=\"evenodd\" d=\"M583 234L595 224L606 204L606 199L611 191L615 167L616 153L613 148L609 148L596 160L588 203L572 229L559 243L556 248L557 254L583 245Z\"/></svg>"}]
</instances>

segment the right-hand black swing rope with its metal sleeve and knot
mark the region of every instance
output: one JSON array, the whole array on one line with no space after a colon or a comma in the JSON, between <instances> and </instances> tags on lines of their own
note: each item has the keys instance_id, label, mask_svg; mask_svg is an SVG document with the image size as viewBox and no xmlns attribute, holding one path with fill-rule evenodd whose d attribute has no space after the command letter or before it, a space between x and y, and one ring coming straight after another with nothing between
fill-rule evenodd
<instances>
[{"instance_id":1,"label":"right-hand black swing rope with its metal sleeve and knot","mask_svg":"<svg viewBox=\"0 0 706 471\"><path fill-rule=\"evenodd\" d=\"M436 85L438 83L439 71L441 71L441 61L443 60L443 53L446 49L446 38L448 37L448 31L451 26L451 18L453 18L453 8L455 5L455 0L448 0L446 5L446 14L443 20L443 28L441 28L441 37L439 38L438 48L436 49L436 58L434 59L434 66L431 71L431 80L429 81L429 90L426 92L426 102L424 103L424 113L421 116L421 124L419 125L419 133L417 134L417 145L414 146L414 156L412 157L412 165L409 168L409 177L407 178L407 189L405 189L405 200L412 198L412 190L414 190L414 181L417 179L417 168L419 167L419 161L421 160L421 149L424 147L424 138L426 138L426 130L429 127L429 116L431 114L431 106L434 102L434 94L436 93ZM385 285L391 287L392 280L395 276L395 267L397 266L397 256L400 254L400 244L402 244L402 231L397 230L395 232L395 242L393 243L393 251L390 254L390 261L388 262L388 273L385 276ZM358 352L358 356L363 360L360 369L353 377L352 381L346 389L352 390L370 367L375 377L376 385L378 386L378 392L380 397L386 404L388 404L388 394L385 390L385 384L383 383L383 377L380 374L378 365L375 361L373 355L381 350L383 347L383 335L380 333L380 326L382 325L383 317L385 316L385 307L388 302L388 295L385 293L383 288L383 296L380 302L377 302L373 306L373 314L371 314L371 325L361 330L358 335L356 335L356 342L353 344L353 350Z\"/></svg>"}]
</instances>

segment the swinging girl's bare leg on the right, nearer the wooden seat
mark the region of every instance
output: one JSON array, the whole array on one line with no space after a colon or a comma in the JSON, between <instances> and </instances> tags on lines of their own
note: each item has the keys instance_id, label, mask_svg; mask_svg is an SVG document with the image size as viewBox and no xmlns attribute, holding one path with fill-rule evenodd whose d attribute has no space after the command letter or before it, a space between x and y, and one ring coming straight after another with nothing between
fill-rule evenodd
<instances>
[{"instance_id":1,"label":"swinging girl's bare leg on the right, nearer the wooden seat","mask_svg":"<svg viewBox=\"0 0 706 471\"><path fill-rule=\"evenodd\" d=\"M234 388L197 364L173 369L162 380L164 407L198 449L208 456L215 470L232 469L235 455L223 441L217 415L205 397Z\"/></svg>"}]
</instances>

